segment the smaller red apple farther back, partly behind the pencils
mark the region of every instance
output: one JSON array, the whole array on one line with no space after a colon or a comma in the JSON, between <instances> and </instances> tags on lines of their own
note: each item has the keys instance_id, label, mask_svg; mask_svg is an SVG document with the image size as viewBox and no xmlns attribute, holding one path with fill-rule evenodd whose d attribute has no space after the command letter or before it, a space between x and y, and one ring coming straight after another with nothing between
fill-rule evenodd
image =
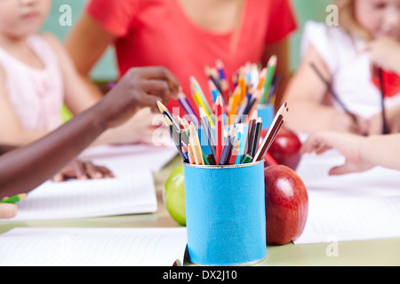
<instances>
[{"instance_id":1,"label":"smaller red apple farther back, partly behind the pencils","mask_svg":"<svg viewBox=\"0 0 400 284\"><path fill-rule=\"evenodd\" d=\"M264 138L268 130L262 130L260 137ZM279 164L285 165L292 170L296 170L301 160L300 154L301 142L299 137L292 131L281 128L276 134L276 138L272 145L269 147L268 153ZM266 157L266 167L273 164L268 163Z\"/></svg>"}]
</instances>

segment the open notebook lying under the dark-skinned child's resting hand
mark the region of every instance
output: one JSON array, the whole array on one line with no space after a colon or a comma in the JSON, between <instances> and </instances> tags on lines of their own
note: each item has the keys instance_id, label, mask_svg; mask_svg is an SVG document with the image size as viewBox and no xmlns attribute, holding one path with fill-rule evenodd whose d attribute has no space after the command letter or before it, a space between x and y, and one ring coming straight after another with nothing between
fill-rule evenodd
<instances>
[{"instance_id":1,"label":"open notebook lying under the dark-skinned child's resting hand","mask_svg":"<svg viewBox=\"0 0 400 284\"><path fill-rule=\"evenodd\" d=\"M150 172L63 183L48 181L28 193L18 208L16 217L4 221L152 213L157 209L156 189Z\"/></svg>"}]
</instances>

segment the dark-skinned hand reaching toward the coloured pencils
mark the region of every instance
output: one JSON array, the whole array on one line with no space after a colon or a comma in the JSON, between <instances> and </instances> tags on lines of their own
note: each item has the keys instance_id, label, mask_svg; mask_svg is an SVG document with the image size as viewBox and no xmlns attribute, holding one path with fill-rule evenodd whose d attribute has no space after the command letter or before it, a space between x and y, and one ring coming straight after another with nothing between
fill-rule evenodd
<instances>
[{"instance_id":1,"label":"dark-skinned hand reaching toward the coloured pencils","mask_svg":"<svg viewBox=\"0 0 400 284\"><path fill-rule=\"evenodd\" d=\"M140 108L149 106L158 112L157 100L163 103L178 96L180 84L164 67L135 67L108 92L101 106L107 128L126 122Z\"/></svg>"}]
</instances>

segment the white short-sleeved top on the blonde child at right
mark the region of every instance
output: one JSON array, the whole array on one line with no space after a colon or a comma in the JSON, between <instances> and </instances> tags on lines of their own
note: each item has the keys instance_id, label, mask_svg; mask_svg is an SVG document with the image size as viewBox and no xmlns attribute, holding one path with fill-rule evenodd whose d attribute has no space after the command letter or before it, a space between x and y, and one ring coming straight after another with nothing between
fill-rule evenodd
<instances>
[{"instance_id":1,"label":"white short-sleeved top on the blonde child at right","mask_svg":"<svg viewBox=\"0 0 400 284\"><path fill-rule=\"evenodd\" d=\"M372 83L370 53L366 43L338 27L308 21L301 43L301 55L310 45L324 59L332 75L332 88L348 110L364 119L381 112L380 88ZM333 100L333 105L340 105ZM385 99L385 106L400 105L400 92Z\"/></svg>"}]
</instances>

